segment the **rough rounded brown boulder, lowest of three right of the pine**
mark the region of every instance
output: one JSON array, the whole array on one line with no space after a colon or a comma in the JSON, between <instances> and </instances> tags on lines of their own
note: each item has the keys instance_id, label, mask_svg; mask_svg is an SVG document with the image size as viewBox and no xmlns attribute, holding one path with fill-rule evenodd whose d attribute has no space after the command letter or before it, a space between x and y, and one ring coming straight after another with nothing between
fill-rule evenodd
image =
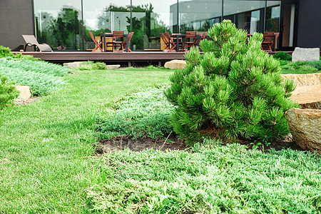
<instances>
[{"instance_id":1,"label":"rough rounded brown boulder, lowest of three right of the pine","mask_svg":"<svg viewBox=\"0 0 321 214\"><path fill-rule=\"evenodd\" d=\"M321 153L321 110L291 108L285 116L297 146Z\"/></svg>"}]
</instances>

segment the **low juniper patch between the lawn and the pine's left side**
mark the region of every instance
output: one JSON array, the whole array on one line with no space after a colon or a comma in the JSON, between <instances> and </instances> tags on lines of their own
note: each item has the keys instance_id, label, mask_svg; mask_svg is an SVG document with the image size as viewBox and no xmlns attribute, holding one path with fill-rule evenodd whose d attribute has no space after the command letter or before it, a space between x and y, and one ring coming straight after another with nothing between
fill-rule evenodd
<instances>
[{"instance_id":1,"label":"low juniper patch between the lawn and the pine's left side","mask_svg":"<svg viewBox=\"0 0 321 214\"><path fill-rule=\"evenodd\" d=\"M170 133L170 112L173 106L166 101L162 88L146 88L116 103L97 121L96 131L101 138L129 135L132 138L149 136L163 138Z\"/></svg>"}]
</instances>

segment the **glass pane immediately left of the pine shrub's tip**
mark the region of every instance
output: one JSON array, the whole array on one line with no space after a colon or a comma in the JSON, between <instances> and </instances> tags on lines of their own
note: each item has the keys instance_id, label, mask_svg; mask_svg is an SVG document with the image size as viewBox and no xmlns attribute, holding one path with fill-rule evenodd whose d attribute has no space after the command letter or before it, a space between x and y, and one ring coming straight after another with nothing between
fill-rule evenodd
<instances>
[{"instance_id":1,"label":"glass pane immediately left of the pine shrub's tip","mask_svg":"<svg viewBox=\"0 0 321 214\"><path fill-rule=\"evenodd\" d=\"M179 1L180 33L208 31L222 16L222 0Z\"/></svg>"}]
</instances>

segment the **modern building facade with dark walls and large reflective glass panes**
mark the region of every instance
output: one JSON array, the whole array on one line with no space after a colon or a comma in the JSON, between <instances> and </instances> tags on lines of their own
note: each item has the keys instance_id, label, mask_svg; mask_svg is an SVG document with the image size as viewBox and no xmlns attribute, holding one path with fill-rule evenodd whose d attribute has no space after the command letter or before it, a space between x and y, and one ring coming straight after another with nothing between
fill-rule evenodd
<instances>
[{"instance_id":1,"label":"modern building facade with dark walls and large reflective glass panes","mask_svg":"<svg viewBox=\"0 0 321 214\"><path fill-rule=\"evenodd\" d=\"M321 46L320 8L320 0L1 0L0 45L18 51L21 34L34 34L53 49L84 51L94 46L88 31L134 31L132 49L143 50L143 35L157 41L230 19L249 34L279 32L279 50L312 48Z\"/></svg>"}]
</instances>

